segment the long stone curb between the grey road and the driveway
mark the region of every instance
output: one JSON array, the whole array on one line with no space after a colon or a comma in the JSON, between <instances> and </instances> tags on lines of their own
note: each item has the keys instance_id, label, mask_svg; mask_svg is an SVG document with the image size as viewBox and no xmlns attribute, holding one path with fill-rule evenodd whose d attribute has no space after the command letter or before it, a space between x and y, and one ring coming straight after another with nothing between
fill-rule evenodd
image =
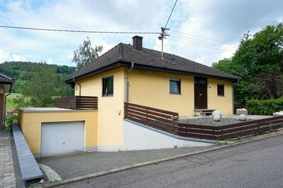
<instances>
[{"instance_id":1,"label":"long stone curb between the grey road and the driveway","mask_svg":"<svg viewBox=\"0 0 283 188\"><path fill-rule=\"evenodd\" d=\"M263 140L263 139L269 139L269 138L272 138L272 137L275 137L275 136L282 136L282 135L283 135L283 130L280 130L280 131L275 132L272 135L269 135L269 136L260 135L258 138L248 140L248 141L242 141L242 142L238 142L238 143L234 142L234 143L230 143L228 145L217 146L215 148L209 148L209 149L205 149L205 150L202 150L202 151L194 151L194 152L191 152L191 153L174 155L174 156L168 157L168 158L150 160L150 161L143 162L143 163L126 165L126 166L121 167L121 168L113 168L111 170L105 170L105 171L102 171L102 172L94 172L94 173L90 173L88 175L81 175L81 176L77 176L77 177L72 177L72 178L69 178L69 179L66 179L66 180L62 180L61 182L54 182L54 183L51 183L51 184L45 184L45 187L57 187L57 186L61 186L61 185L64 185L64 184L70 184L72 182L78 182L78 181L81 181L81 180L87 180L87 179L91 179L91 178L94 178L94 177L109 175L109 174L115 173L115 172L121 172L121 171L124 171L124 170L139 168L139 167L143 167L143 166L146 166L146 165L152 165L152 164L155 164L155 163L162 163L162 162L165 162L165 161L168 161L168 160L175 160L175 159L178 159L178 158L184 158L184 157L197 155L197 154L201 154L201 153L207 153L209 151L218 151L218 150L223 149L223 148L230 148L230 147L233 147L233 146L239 146L239 145L243 145L245 143L250 143L250 142L253 142L253 141L260 141L260 140Z\"/></svg>"}]
</instances>

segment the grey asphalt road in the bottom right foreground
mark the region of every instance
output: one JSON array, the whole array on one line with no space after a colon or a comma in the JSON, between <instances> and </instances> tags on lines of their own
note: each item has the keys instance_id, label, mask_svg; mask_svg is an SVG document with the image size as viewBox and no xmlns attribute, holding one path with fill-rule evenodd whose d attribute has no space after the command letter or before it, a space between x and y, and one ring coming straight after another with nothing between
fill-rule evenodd
<instances>
[{"instance_id":1,"label":"grey asphalt road in the bottom right foreground","mask_svg":"<svg viewBox=\"0 0 283 188\"><path fill-rule=\"evenodd\" d=\"M63 187L283 187L283 136Z\"/></svg>"}]
</instances>

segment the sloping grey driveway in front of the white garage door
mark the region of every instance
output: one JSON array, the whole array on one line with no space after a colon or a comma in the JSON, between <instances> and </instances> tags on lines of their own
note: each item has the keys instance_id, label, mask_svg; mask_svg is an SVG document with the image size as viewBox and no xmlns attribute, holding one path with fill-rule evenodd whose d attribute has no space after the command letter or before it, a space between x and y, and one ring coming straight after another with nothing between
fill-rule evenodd
<instances>
[{"instance_id":1,"label":"sloping grey driveway in front of the white garage door","mask_svg":"<svg viewBox=\"0 0 283 188\"><path fill-rule=\"evenodd\" d=\"M38 163L48 165L62 177L62 180L64 180L70 177L87 175L89 173L101 172L113 168L121 168L126 165L201 151L212 147L215 146L168 148L146 151L77 153L59 157L40 158L38 159Z\"/></svg>"}]
</instances>

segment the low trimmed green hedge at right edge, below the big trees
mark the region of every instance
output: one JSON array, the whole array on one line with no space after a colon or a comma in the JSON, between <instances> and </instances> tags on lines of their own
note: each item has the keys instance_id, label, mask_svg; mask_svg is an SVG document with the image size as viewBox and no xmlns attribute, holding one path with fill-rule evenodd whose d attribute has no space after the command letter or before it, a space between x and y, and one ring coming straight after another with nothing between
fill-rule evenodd
<instances>
[{"instance_id":1,"label":"low trimmed green hedge at right edge, below the big trees","mask_svg":"<svg viewBox=\"0 0 283 188\"><path fill-rule=\"evenodd\" d=\"M274 100L248 100L248 114L272 115L274 112L283 111L283 98Z\"/></svg>"}]
</instances>

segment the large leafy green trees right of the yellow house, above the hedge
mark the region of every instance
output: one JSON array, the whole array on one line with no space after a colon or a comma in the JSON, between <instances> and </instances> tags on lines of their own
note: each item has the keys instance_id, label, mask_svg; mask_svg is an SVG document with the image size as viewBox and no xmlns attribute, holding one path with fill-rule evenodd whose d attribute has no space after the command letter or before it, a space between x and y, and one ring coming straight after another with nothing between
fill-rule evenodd
<instances>
[{"instance_id":1,"label":"large leafy green trees right of the yellow house, above the hedge","mask_svg":"<svg viewBox=\"0 0 283 188\"><path fill-rule=\"evenodd\" d=\"M231 59L212 65L240 76L235 83L235 108L245 107L248 100L276 99L283 95L283 25L268 25L251 37L243 36Z\"/></svg>"}]
</instances>

